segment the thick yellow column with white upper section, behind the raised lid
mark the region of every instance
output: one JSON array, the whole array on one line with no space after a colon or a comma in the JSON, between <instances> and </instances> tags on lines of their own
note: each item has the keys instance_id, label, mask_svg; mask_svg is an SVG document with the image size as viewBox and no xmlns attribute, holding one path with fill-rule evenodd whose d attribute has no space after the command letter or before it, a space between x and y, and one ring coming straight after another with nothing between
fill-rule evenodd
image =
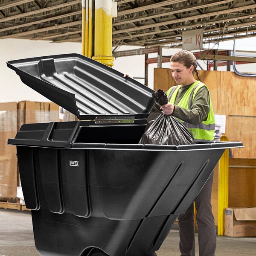
<instances>
[{"instance_id":1,"label":"thick yellow column with white upper section, behind the raised lid","mask_svg":"<svg viewBox=\"0 0 256 256\"><path fill-rule=\"evenodd\" d=\"M93 59L113 66L112 0L95 0Z\"/></svg>"}]
</instances>

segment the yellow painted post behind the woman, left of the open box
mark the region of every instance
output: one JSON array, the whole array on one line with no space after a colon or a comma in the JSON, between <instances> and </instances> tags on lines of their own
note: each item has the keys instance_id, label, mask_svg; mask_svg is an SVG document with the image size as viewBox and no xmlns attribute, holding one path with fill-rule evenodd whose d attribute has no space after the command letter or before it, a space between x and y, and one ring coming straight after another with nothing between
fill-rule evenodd
<instances>
[{"instance_id":1,"label":"yellow painted post behind the woman, left of the open box","mask_svg":"<svg viewBox=\"0 0 256 256\"><path fill-rule=\"evenodd\" d=\"M222 136L221 141L228 141ZM228 207L228 176L229 176L229 150L226 149L219 160L218 169L218 236L224 236L225 208Z\"/></svg>"}]
</instances>

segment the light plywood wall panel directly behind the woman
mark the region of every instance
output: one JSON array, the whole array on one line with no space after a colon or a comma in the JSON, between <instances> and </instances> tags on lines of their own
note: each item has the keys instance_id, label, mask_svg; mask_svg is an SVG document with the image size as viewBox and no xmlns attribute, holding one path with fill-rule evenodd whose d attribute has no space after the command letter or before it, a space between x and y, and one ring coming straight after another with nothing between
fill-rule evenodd
<instances>
[{"instance_id":1,"label":"light plywood wall panel directly behind the woman","mask_svg":"<svg viewBox=\"0 0 256 256\"><path fill-rule=\"evenodd\" d=\"M232 149L233 157L256 158L256 79L229 71L198 71L209 88L213 111L226 116L226 135L244 148ZM154 69L154 90L176 85L168 68Z\"/></svg>"}]
</instances>

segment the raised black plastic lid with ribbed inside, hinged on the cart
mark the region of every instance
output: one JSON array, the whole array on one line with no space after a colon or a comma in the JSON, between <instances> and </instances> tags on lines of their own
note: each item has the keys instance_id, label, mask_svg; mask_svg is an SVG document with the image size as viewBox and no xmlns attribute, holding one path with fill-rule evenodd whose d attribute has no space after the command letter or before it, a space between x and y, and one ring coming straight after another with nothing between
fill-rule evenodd
<instances>
[{"instance_id":1,"label":"raised black plastic lid with ribbed inside, hinged on the cart","mask_svg":"<svg viewBox=\"0 0 256 256\"><path fill-rule=\"evenodd\" d=\"M8 61L21 81L79 119L133 116L145 119L154 90L80 54Z\"/></svg>"}]
</instances>

